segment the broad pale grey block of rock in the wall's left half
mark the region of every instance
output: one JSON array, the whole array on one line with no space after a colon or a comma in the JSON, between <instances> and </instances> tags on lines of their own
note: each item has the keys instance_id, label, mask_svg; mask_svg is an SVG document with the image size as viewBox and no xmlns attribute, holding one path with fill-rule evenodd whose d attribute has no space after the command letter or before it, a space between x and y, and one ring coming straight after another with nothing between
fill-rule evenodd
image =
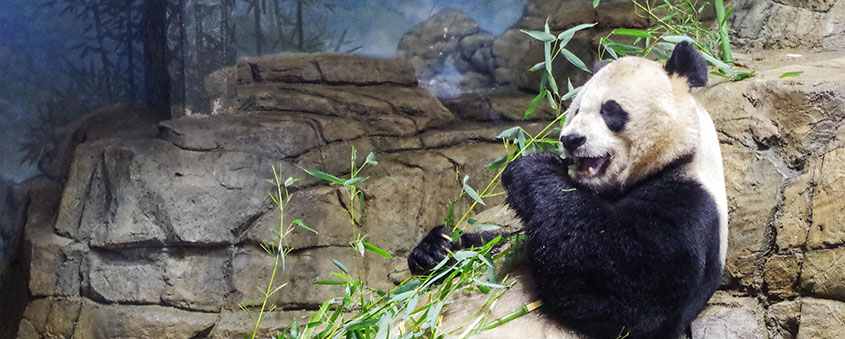
<instances>
[{"instance_id":1,"label":"broad pale grey block of rock in the wall's left half","mask_svg":"<svg viewBox=\"0 0 845 339\"><path fill-rule=\"evenodd\" d=\"M273 162L248 153L185 151L162 140L90 147L77 158L83 173L71 174L56 229L93 246L231 243L269 191L262 182Z\"/></svg>"}]
</instances>

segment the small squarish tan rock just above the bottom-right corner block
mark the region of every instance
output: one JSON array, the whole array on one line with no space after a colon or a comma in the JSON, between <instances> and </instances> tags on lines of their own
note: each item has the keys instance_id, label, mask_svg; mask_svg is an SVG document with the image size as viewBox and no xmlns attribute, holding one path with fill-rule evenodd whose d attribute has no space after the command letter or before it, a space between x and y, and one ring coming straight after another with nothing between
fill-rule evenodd
<instances>
[{"instance_id":1,"label":"small squarish tan rock just above the bottom-right corner block","mask_svg":"<svg viewBox=\"0 0 845 339\"><path fill-rule=\"evenodd\" d=\"M845 301L845 247L805 253L801 289L813 296Z\"/></svg>"}]
</instances>

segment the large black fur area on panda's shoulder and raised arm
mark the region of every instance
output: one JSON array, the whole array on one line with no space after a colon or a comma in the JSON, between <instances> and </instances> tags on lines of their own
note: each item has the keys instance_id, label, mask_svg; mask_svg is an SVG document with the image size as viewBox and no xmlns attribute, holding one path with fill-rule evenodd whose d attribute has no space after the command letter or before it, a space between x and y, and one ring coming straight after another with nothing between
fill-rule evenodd
<instances>
[{"instance_id":1,"label":"large black fur area on panda's shoulder and raised arm","mask_svg":"<svg viewBox=\"0 0 845 339\"><path fill-rule=\"evenodd\" d=\"M524 223L546 314L594 338L681 335L722 270L715 202L680 176L691 158L613 197L578 189L551 153L507 167L507 202Z\"/></svg>"}]
</instances>

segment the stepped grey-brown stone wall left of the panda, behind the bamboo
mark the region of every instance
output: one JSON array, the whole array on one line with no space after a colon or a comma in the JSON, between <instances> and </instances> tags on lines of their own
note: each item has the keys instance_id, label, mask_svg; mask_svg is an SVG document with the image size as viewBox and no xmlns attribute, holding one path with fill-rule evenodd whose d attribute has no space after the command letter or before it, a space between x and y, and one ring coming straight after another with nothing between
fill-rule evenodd
<instances>
[{"instance_id":1,"label":"stepped grey-brown stone wall left of the panda, behind the bamboo","mask_svg":"<svg viewBox=\"0 0 845 339\"><path fill-rule=\"evenodd\" d=\"M122 133L89 124L72 133L84 137L71 143L66 182L27 186L31 299L19 337L242 338L252 320L239 305L261 300L272 269L259 247L278 228L267 196L272 166L303 179L287 217L319 234L291 234L295 250L278 280L288 285L271 299L285 311L265 320L266 330L302 321L341 292L311 284L331 279L331 259L389 288L409 274L405 256L460 193L456 171L486 184L485 166L504 154L495 136L532 99L467 97L448 101L450 111L416 87L410 64L355 56L250 59L230 73L236 91L218 98L232 107L225 114L165 121L153 134L130 133L149 130L143 121ZM541 109L532 119L551 117ZM356 231L395 259L358 255L343 195L302 171L345 175L352 147L379 161L362 173L369 180Z\"/></svg>"}]
</instances>

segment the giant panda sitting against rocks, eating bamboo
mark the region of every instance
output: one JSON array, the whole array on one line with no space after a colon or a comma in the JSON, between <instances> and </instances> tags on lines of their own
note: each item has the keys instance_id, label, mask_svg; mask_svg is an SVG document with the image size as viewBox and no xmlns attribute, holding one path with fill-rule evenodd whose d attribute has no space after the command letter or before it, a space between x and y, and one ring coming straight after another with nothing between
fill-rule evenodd
<instances>
[{"instance_id":1,"label":"giant panda sitting against rocks, eating bamboo","mask_svg":"<svg viewBox=\"0 0 845 339\"><path fill-rule=\"evenodd\" d=\"M689 329L720 284L727 245L719 142L690 93L706 82L687 42L665 64L620 58L574 98L560 156L508 165L502 182L526 234L527 274L498 307L542 306L484 337L676 339ZM417 245L412 272L492 236L449 234L435 228Z\"/></svg>"}]
</instances>

